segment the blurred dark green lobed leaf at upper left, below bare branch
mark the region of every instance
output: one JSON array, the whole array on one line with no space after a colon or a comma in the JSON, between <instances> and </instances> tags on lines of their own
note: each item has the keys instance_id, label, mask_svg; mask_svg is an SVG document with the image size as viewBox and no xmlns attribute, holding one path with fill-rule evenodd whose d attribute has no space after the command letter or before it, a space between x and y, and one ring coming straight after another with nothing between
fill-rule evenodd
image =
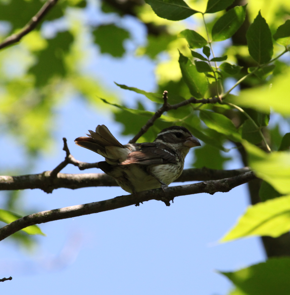
<instances>
[{"instance_id":1,"label":"blurred dark green lobed leaf at upper left, below bare branch","mask_svg":"<svg viewBox=\"0 0 290 295\"><path fill-rule=\"evenodd\" d=\"M53 76L66 75L64 55L73 40L69 32L60 32L55 38L47 40L48 47L38 53L38 62L29 70L35 75L35 86L45 85Z\"/></svg>"}]
</instances>

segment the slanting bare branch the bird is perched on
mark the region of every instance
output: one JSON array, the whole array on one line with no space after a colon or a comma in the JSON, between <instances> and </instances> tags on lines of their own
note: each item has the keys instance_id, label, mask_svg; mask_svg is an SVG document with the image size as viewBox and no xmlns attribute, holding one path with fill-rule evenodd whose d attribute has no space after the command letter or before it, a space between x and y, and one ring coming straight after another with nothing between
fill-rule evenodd
<instances>
[{"instance_id":1,"label":"slanting bare branch the bird is perched on","mask_svg":"<svg viewBox=\"0 0 290 295\"><path fill-rule=\"evenodd\" d=\"M139 204L141 202L149 200L164 201L164 203L167 206L169 206L169 201L173 201L173 199L177 196L199 193L214 194L218 191L228 192L234 187L251 181L255 178L256 176L254 172L249 171L238 176L225 178L221 180L210 180L183 186L171 186L168 187L165 190L165 192L162 189L152 189L148 191L141 191L136 195L130 194L125 196L118 196L114 199L38 212L19 218L14 222L2 227L0 229L0 240L3 240L9 235L12 235L17 231L34 224L40 224L59 219L109 211L113 209L131 206L134 204Z\"/></svg>"}]
</instances>

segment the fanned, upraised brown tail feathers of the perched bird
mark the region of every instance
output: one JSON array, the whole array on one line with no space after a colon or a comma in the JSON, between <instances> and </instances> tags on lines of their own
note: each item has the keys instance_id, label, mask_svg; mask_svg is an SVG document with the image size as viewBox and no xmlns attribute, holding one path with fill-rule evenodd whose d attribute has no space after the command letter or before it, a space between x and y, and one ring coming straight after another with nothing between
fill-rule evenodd
<instances>
[{"instance_id":1,"label":"fanned, upraised brown tail feathers of the perched bird","mask_svg":"<svg viewBox=\"0 0 290 295\"><path fill-rule=\"evenodd\" d=\"M76 145L92 150L104 157L106 157L106 147L124 148L105 125L98 125L96 132L89 130L89 133L87 134L89 137L81 136L76 138L74 140Z\"/></svg>"}]
</instances>

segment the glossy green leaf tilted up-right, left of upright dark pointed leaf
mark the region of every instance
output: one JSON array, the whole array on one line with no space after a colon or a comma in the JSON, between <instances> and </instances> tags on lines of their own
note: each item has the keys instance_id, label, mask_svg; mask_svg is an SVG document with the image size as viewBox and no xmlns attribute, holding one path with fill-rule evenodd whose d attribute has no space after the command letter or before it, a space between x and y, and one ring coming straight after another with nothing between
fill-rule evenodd
<instances>
[{"instance_id":1,"label":"glossy green leaf tilted up-right, left of upright dark pointed leaf","mask_svg":"<svg viewBox=\"0 0 290 295\"><path fill-rule=\"evenodd\" d=\"M239 29L246 17L246 6L236 6L226 12L214 24L211 35L213 41L226 40Z\"/></svg>"}]
</instances>

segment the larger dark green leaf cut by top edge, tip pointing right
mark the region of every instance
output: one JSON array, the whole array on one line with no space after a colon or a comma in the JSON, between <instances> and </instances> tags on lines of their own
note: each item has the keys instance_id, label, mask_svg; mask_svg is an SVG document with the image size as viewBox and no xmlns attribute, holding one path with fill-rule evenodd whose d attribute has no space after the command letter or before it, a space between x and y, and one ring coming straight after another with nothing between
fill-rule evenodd
<instances>
[{"instance_id":1,"label":"larger dark green leaf cut by top edge, tip pointing right","mask_svg":"<svg viewBox=\"0 0 290 295\"><path fill-rule=\"evenodd\" d=\"M146 0L145 2L159 17L169 20L186 19L198 12L191 9L183 0Z\"/></svg>"}]
</instances>

